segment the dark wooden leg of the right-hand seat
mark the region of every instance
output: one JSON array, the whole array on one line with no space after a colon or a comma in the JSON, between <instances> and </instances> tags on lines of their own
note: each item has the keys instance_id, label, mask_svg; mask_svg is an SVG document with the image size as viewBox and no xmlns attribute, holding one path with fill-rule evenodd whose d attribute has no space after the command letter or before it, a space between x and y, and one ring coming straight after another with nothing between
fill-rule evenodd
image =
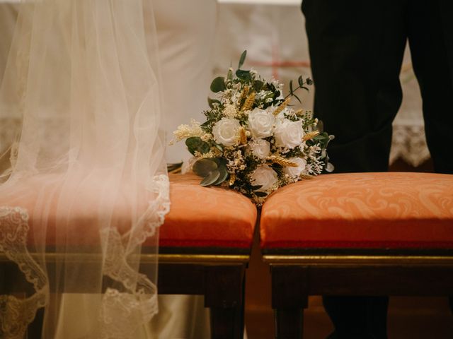
<instances>
[{"instance_id":1,"label":"dark wooden leg of the right-hand seat","mask_svg":"<svg viewBox=\"0 0 453 339\"><path fill-rule=\"evenodd\" d=\"M304 309L308 306L307 268L271 266L270 272L275 338L301 339L304 333Z\"/></svg>"}]
</instances>

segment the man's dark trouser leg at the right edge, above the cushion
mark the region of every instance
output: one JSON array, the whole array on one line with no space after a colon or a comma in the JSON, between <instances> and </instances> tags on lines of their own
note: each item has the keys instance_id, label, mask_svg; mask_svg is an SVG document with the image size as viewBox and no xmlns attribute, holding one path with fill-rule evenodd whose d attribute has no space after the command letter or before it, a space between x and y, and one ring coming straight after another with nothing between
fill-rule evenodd
<instances>
[{"instance_id":1,"label":"man's dark trouser leg at the right edge, above the cushion","mask_svg":"<svg viewBox=\"0 0 453 339\"><path fill-rule=\"evenodd\" d=\"M411 1L408 39L423 97L425 133L436 172L453 173L453 4Z\"/></svg>"}]
</instances>

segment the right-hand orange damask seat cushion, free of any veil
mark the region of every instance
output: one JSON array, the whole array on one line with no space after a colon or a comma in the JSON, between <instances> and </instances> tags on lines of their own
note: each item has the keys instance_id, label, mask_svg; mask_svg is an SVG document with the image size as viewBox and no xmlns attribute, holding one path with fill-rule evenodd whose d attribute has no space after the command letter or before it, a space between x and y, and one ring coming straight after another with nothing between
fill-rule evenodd
<instances>
[{"instance_id":1,"label":"right-hand orange damask seat cushion, free of any veil","mask_svg":"<svg viewBox=\"0 0 453 339\"><path fill-rule=\"evenodd\" d=\"M263 249L453 249L453 175L323 174L269 196Z\"/></svg>"}]
</instances>

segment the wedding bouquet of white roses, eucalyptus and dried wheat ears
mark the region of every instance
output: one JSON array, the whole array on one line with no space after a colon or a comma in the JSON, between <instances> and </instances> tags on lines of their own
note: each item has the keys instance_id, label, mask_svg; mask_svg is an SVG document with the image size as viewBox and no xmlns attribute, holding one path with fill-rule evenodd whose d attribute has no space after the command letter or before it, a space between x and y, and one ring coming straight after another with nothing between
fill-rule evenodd
<instances>
[{"instance_id":1,"label":"wedding bouquet of white roses, eucalyptus and dried wheat ears","mask_svg":"<svg viewBox=\"0 0 453 339\"><path fill-rule=\"evenodd\" d=\"M282 84L265 81L256 71L241 69L243 52L236 72L211 83L216 99L208 97L207 120L180 125L173 132L176 141L194 156L192 169L203 177L202 186L222 185L241 192L260 206L281 186L333 170L326 147L333 138L319 130L319 121L310 111L294 110L296 90L308 90L310 78L298 79L297 88L289 83L289 94L282 95Z\"/></svg>"}]
</instances>

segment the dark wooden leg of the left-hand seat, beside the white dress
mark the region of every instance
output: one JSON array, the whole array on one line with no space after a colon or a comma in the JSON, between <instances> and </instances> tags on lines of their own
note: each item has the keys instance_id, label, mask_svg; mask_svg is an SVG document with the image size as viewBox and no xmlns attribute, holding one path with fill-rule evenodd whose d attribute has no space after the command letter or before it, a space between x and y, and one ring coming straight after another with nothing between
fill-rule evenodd
<instances>
[{"instance_id":1,"label":"dark wooden leg of the left-hand seat, beside the white dress","mask_svg":"<svg viewBox=\"0 0 453 339\"><path fill-rule=\"evenodd\" d=\"M245 265L207 268L205 306L211 310L212 339L242 339Z\"/></svg>"}]
</instances>

